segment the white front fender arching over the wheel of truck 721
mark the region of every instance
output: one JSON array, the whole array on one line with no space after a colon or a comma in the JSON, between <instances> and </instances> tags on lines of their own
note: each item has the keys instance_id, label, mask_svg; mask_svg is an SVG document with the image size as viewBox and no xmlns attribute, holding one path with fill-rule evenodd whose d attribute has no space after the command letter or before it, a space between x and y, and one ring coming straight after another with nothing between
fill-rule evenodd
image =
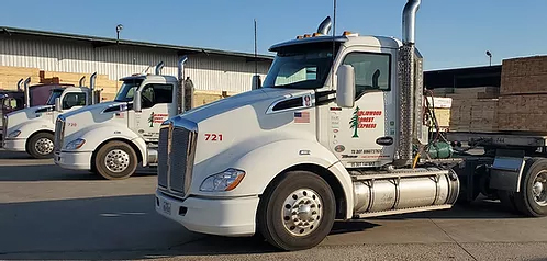
<instances>
[{"instance_id":1,"label":"white front fender arching over the wheel of truck 721","mask_svg":"<svg viewBox=\"0 0 547 261\"><path fill-rule=\"evenodd\" d=\"M270 160L275 158L275 160ZM246 172L242 183L234 189L234 195L263 194L268 184L284 170L310 163L332 172L341 183L346 196L346 215L353 215L354 194L351 178L338 159L323 145L308 139L284 139L266 144L237 159L233 168ZM201 183L201 181L199 181ZM231 193L230 196L233 194Z\"/></svg>"}]
</instances>

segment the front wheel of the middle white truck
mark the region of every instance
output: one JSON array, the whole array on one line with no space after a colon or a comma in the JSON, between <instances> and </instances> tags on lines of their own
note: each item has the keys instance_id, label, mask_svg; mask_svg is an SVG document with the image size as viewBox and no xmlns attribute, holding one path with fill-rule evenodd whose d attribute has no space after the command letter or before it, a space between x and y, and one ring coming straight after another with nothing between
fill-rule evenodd
<instances>
[{"instance_id":1,"label":"front wheel of the middle white truck","mask_svg":"<svg viewBox=\"0 0 547 261\"><path fill-rule=\"evenodd\" d=\"M135 150L123 141L107 143L94 157L97 172L108 180L130 178L135 173L137 163Z\"/></svg>"}]
</instances>

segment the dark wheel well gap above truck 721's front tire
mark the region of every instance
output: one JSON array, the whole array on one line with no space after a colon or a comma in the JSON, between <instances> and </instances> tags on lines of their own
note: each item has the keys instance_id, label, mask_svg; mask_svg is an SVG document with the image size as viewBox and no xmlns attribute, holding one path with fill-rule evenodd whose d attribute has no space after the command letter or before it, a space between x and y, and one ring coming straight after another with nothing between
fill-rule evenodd
<instances>
[{"instance_id":1,"label":"dark wheel well gap above truck 721's front tire","mask_svg":"<svg viewBox=\"0 0 547 261\"><path fill-rule=\"evenodd\" d=\"M317 164L304 163L304 164L297 164L297 166L290 167L290 168L281 171L281 173L286 173L288 171L297 171L297 170L310 171L310 172L313 172L313 173L320 175L321 178L323 178L326 181L326 183L328 183L331 189L333 190L334 197L336 200L336 218L346 219L346 211L347 211L346 209L347 208L346 195L344 193L344 189L342 188L342 184L336 179L336 177L333 174L333 172L331 172L330 170L327 170L321 166L317 166ZM266 191L271 190L272 184L275 184L281 178L282 178L281 174L278 174L276 178L274 178L274 180L266 188Z\"/></svg>"}]
</instances>

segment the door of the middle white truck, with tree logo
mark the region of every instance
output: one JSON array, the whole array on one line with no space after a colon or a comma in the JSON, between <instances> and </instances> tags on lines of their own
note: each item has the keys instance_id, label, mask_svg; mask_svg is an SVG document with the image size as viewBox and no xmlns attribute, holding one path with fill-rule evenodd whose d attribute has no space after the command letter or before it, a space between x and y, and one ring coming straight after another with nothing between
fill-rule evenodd
<instances>
[{"instance_id":1,"label":"door of the middle white truck, with tree logo","mask_svg":"<svg viewBox=\"0 0 547 261\"><path fill-rule=\"evenodd\" d=\"M130 128L146 141L157 141L159 126L168 118L168 107L172 103L171 83L147 83L142 91L142 112L130 112Z\"/></svg>"}]
</instances>

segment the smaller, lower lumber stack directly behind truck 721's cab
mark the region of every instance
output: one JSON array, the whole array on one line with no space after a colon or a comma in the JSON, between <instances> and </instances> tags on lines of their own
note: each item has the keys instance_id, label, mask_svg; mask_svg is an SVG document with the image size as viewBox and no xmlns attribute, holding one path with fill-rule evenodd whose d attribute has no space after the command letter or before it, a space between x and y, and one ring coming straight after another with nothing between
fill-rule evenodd
<instances>
[{"instance_id":1,"label":"smaller, lower lumber stack directly behind truck 721's cab","mask_svg":"<svg viewBox=\"0 0 547 261\"><path fill-rule=\"evenodd\" d=\"M435 97L451 98L449 129L476 133L498 130L499 93L496 87L442 88L434 91Z\"/></svg>"}]
</instances>

